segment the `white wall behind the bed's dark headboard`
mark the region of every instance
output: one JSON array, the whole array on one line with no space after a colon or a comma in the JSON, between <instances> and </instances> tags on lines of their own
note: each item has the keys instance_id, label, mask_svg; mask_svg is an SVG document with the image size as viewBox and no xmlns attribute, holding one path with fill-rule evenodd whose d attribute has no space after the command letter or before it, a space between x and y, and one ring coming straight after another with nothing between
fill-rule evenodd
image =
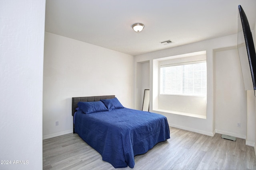
<instances>
[{"instance_id":1,"label":"white wall behind the bed's dark headboard","mask_svg":"<svg viewBox=\"0 0 256 170\"><path fill-rule=\"evenodd\" d=\"M72 133L72 97L102 95L134 108L133 56L46 32L43 138Z\"/></svg>"}]
</instances>

